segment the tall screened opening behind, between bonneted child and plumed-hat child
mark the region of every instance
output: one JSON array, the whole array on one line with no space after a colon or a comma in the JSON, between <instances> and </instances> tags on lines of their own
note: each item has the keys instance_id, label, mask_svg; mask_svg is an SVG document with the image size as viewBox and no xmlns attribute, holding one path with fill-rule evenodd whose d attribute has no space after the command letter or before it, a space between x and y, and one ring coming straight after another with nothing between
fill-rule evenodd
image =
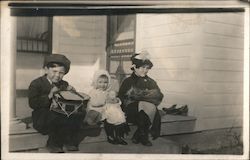
<instances>
[{"instance_id":1,"label":"tall screened opening behind, between bonneted child and plumed-hat child","mask_svg":"<svg viewBox=\"0 0 250 160\"><path fill-rule=\"evenodd\" d=\"M130 57L135 51L135 15L108 17L107 70L122 80L131 74Z\"/></svg>"}]
</instances>

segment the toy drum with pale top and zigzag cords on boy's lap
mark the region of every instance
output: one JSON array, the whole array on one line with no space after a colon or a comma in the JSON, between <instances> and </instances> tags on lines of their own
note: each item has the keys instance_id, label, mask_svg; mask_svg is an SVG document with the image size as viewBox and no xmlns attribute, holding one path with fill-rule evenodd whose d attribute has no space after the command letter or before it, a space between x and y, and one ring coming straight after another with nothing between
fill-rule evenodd
<instances>
[{"instance_id":1,"label":"toy drum with pale top and zigzag cords on boy's lap","mask_svg":"<svg viewBox=\"0 0 250 160\"><path fill-rule=\"evenodd\" d=\"M54 94L50 110L67 117L83 112L87 107L89 96L75 91L60 91Z\"/></svg>"}]
</instances>

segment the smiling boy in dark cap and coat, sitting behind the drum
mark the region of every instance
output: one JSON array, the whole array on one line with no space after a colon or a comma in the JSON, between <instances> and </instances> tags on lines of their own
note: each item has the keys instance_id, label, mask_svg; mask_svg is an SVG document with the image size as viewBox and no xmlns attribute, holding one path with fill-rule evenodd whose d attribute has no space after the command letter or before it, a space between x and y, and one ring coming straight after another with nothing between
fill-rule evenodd
<instances>
[{"instance_id":1,"label":"smiling boy in dark cap and coat, sitting behind the drum","mask_svg":"<svg viewBox=\"0 0 250 160\"><path fill-rule=\"evenodd\" d=\"M53 95L62 90L74 90L63 80L69 72L70 60L61 54L45 57L45 74L33 80L29 86L29 106L33 109L34 128L41 134L48 134L47 148L51 153L63 153L63 145L68 151L77 151L77 134L84 114L67 117L50 111Z\"/></svg>"}]
</instances>

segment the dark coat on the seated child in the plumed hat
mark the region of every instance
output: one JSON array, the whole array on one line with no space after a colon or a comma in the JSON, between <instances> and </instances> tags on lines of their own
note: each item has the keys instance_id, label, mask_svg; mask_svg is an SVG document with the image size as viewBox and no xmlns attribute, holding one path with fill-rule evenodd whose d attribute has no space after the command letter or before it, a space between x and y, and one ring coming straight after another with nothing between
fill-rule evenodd
<instances>
[{"instance_id":1,"label":"dark coat on the seated child in the plumed hat","mask_svg":"<svg viewBox=\"0 0 250 160\"><path fill-rule=\"evenodd\" d=\"M126 78L118 93L118 97L122 101L123 111L126 113L127 121L136 123L139 101L147 101L158 106L163 94L157 83L150 77L138 77L135 73ZM151 134L154 138L160 135L161 117L156 109L155 118L151 127Z\"/></svg>"}]
</instances>

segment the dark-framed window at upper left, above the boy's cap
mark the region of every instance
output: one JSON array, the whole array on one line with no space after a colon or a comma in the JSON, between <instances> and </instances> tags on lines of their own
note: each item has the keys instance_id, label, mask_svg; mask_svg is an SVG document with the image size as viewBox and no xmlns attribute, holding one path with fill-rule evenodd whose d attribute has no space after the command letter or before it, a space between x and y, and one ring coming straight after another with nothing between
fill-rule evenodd
<instances>
[{"instance_id":1,"label":"dark-framed window at upper left, above the boy's cap","mask_svg":"<svg viewBox=\"0 0 250 160\"><path fill-rule=\"evenodd\" d=\"M49 54L52 17L17 17L17 52Z\"/></svg>"}]
</instances>

